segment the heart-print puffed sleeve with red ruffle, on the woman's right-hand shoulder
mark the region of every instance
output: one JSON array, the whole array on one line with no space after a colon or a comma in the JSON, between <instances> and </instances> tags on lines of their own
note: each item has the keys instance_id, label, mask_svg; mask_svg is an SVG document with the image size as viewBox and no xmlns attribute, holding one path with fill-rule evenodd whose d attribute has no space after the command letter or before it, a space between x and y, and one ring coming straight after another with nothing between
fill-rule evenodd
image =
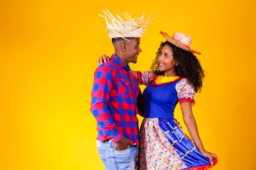
<instances>
[{"instance_id":1,"label":"heart-print puffed sleeve with red ruffle, on the woman's right-hand shoulder","mask_svg":"<svg viewBox=\"0 0 256 170\"><path fill-rule=\"evenodd\" d=\"M177 97L179 99L180 104L182 104L183 102L191 101L191 106L194 106L194 86L190 84L187 79L181 79L180 82L176 84L175 89L177 91Z\"/></svg>"}]
</instances>

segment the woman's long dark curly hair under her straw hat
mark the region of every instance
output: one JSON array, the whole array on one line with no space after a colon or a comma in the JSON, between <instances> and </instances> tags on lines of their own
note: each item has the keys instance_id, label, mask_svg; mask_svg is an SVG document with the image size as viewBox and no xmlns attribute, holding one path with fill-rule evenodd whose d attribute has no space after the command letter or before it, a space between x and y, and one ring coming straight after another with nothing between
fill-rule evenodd
<instances>
[{"instance_id":1,"label":"woman's long dark curly hair under her straw hat","mask_svg":"<svg viewBox=\"0 0 256 170\"><path fill-rule=\"evenodd\" d=\"M204 80L204 70L202 69L200 61L193 53L185 51L168 41L161 42L160 47L156 53L156 57L151 65L151 70L155 72L156 75L164 75L164 71L159 71L158 61L158 57L164 45L171 47L173 51L173 57L175 58L176 62L179 63L175 68L177 76L188 79L189 82L193 84L195 93L200 92L203 86L202 82Z\"/></svg>"}]
</instances>

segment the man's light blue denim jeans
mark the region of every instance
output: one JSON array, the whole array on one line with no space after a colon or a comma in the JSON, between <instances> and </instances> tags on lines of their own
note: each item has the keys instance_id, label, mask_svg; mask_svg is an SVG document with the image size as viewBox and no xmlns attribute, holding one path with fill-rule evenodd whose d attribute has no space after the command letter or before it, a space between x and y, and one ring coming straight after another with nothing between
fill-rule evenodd
<instances>
[{"instance_id":1,"label":"man's light blue denim jeans","mask_svg":"<svg viewBox=\"0 0 256 170\"><path fill-rule=\"evenodd\" d=\"M115 143L110 139L97 140L97 150L105 170L135 170L137 146L128 146L125 150L115 150Z\"/></svg>"}]
</instances>

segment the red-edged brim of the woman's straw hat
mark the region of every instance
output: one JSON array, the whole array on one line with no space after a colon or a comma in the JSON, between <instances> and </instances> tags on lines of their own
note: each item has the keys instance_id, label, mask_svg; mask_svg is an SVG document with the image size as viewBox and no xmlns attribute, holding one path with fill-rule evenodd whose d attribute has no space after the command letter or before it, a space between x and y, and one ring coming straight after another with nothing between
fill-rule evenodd
<instances>
[{"instance_id":1,"label":"red-edged brim of the woman's straw hat","mask_svg":"<svg viewBox=\"0 0 256 170\"><path fill-rule=\"evenodd\" d=\"M179 48L181 48L181 49L183 49L183 50L185 50L185 51L189 51L189 52L191 52L191 53L196 53L196 54L199 54L199 55L202 54L202 53L200 53L200 52L197 52L197 51L195 51L195 50L190 49L190 46L184 44L184 43L181 42L180 40L177 40L177 39L175 39L175 38L173 38L173 37L170 37L169 35L167 35L167 33L164 33L164 32L162 32L162 31L160 31L160 34L162 34L163 37L166 38L166 40L167 40L168 42L172 43L173 45L175 45L175 46L177 46L177 47L179 47ZM184 35L186 35L186 34L184 34ZM186 36L188 36L188 35L186 35ZM192 39L191 39L191 41L192 41ZM189 44L189 45L190 45L190 44Z\"/></svg>"}]
</instances>

